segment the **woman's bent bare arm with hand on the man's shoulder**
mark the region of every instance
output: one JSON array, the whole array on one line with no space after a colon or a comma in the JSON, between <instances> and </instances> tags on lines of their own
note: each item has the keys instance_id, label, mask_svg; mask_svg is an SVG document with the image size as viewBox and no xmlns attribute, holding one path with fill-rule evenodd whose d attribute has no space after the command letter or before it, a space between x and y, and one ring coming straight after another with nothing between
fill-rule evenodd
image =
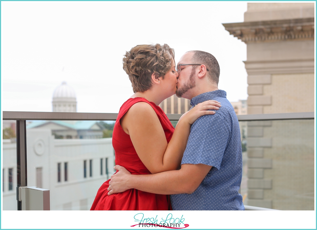
<instances>
[{"instance_id":1,"label":"woman's bent bare arm with hand on the man's shoulder","mask_svg":"<svg viewBox=\"0 0 317 230\"><path fill-rule=\"evenodd\" d=\"M211 105L212 104L212 105ZM214 114L215 102L205 103L195 108L190 114L179 120L171 141L167 144L162 125L153 110L146 102L138 102L131 106L120 124L130 135L133 146L142 163L153 173L175 170L181 163L191 124L201 115Z\"/></svg>"}]
</instances>

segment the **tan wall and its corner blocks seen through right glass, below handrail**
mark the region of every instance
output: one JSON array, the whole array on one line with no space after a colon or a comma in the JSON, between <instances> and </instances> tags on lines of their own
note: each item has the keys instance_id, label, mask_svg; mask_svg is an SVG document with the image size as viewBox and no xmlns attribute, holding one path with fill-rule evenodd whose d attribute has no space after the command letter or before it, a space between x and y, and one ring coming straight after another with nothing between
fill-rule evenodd
<instances>
[{"instance_id":1,"label":"tan wall and its corner blocks seen through right glass, below handrail","mask_svg":"<svg viewBox=\"0 0 317 230\"><path fill-rule=\"evenodd\" d=\"M314 210L314 120L248 122L247 204Z\"/></svg>"}]
</instances>

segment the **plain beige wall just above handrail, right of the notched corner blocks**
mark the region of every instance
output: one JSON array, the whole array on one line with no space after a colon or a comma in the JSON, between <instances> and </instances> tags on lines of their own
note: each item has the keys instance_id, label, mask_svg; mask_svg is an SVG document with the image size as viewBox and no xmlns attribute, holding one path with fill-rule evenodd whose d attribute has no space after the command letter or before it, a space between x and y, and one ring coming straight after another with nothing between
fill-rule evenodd
<instances>
[{"instance_id":1,"label":"plain beige wall just above handrail, right of the notched corner blocks","mask_svg":"<svg viewBox=\"0 0 317 230\"><path fill-rule=\"evenodd\" d=\"M263 113L314 112L314 73L272 74L263 95L272 96Z\"/></svg>"}]
</instances>

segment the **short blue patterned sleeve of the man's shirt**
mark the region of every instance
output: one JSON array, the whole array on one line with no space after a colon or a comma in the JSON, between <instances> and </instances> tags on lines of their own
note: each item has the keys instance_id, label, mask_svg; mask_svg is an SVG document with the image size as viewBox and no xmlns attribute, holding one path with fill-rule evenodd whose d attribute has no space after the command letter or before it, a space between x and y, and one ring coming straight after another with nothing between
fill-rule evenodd
<instances>
[{"instance_id":1,"label":"short blue patterned sleeve of the man's shirt","mask_svg":"<svg viewBox=\"0 0 317 230\"><path fill-rule=\"evenodd\" d=\"M191 126L182 164L206 164L219 170L230 131L230 123L222 114L198 118Z\"/></svg>"}]
</instances>

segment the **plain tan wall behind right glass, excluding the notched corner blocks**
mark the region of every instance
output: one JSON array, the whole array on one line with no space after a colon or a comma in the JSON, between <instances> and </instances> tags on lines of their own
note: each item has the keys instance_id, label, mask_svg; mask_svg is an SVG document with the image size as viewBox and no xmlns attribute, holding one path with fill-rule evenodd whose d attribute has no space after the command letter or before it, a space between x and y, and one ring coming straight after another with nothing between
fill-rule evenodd
<instances>
[{"instance_id":1,"label":"plain tan wall behind right glass, excluding the notched corner blocks","mask_svg":"<svg viewBox=\"0 0 317 230\"><path fill-rule=\"evenodd\" d=\"M264 158L272 159L272 169L264 170L272 189L263 199L272 200L280 210L314 210L314 120L273 121L264 128L272 147Z\"/></svg>"}]
</instances>

